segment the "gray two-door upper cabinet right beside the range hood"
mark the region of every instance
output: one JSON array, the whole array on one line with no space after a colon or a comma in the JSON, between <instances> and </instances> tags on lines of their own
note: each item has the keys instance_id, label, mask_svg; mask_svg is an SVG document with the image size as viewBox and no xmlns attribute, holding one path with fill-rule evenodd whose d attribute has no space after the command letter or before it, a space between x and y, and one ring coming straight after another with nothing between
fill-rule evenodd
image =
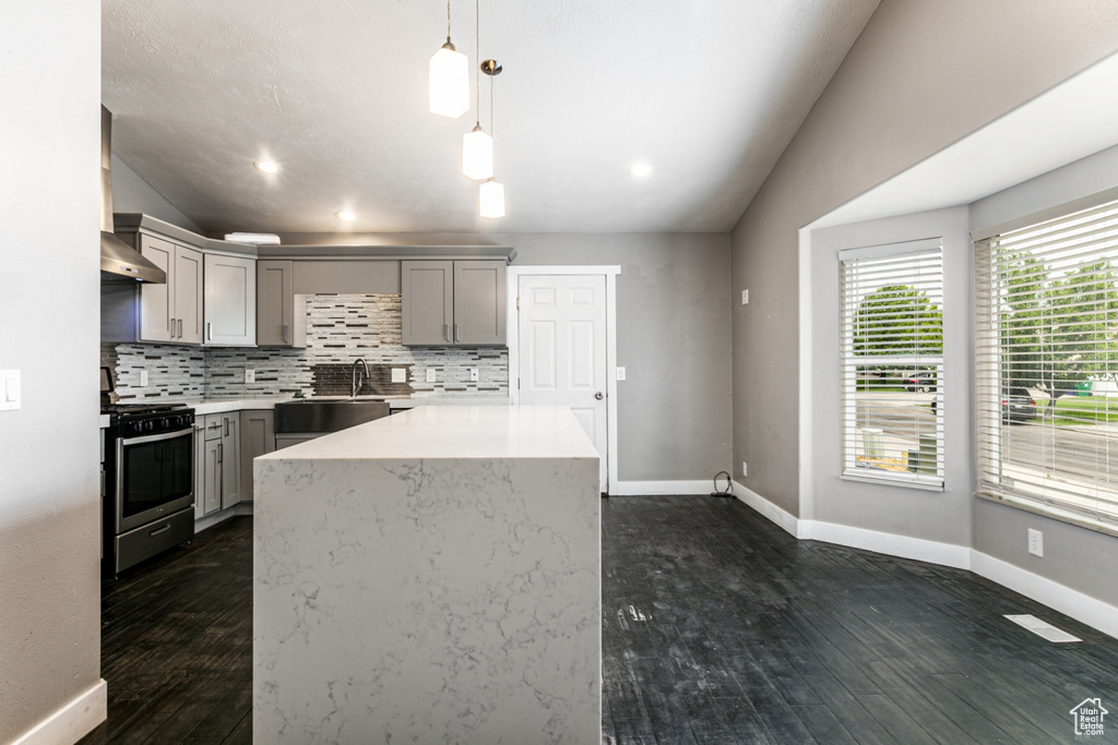
<instances>
[{"instance_id":1,"label":"gray two-door upper cabinet right beside the range hood","mask_svg":"<svg viewBox=\"0 0 1118 745\"><path fill-rule=\"evenodd\" d=\"M140 236L140 252L167 273L165 285L140 288L140 341L202 343L202 252Z\"/></svg>"}]
</instances>

